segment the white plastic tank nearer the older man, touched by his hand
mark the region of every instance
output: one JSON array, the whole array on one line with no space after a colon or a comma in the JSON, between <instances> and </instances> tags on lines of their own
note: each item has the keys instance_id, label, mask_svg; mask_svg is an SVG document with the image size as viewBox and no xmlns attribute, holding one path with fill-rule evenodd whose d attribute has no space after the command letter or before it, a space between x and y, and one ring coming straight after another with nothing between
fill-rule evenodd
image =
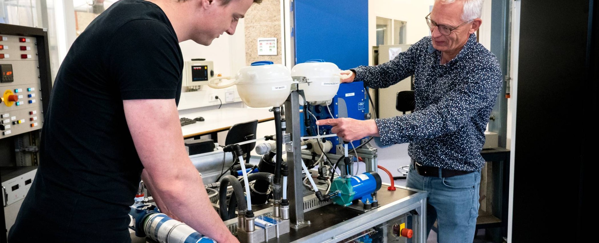
<instances>
[{"instance_id":1,"label":"white plastic tank nearer the older man, touched by his hand","mask_svg":"<svg viewBox=\"0 0 599 243\"><path fill-rule=\"evenodd\" d=\"M335 63L325 62L322 59L298 63L291 69L292 76L308 78L309 83L299 84L299 89L304 90L308 102L331 100L339 89L340 72Z\"/></svg>"}]
</instances>

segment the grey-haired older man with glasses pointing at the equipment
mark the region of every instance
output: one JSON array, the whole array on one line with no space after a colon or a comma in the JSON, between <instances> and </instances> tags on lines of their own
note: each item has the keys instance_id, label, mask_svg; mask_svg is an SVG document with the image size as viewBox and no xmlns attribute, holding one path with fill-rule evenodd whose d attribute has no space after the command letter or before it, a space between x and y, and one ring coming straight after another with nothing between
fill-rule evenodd
<instances>
[{"instance_id":1,"label":"grey-haired older man with glasses pointing at the equipment","mask_svg":"<svg viewBox=\"0 0 599 243\"><path fill-rule=\"evenodd\" d=\"M427 233L438 242L473 242L479 210L480 155L501 89L497 58L476 41L483 0L436 0L426 18L431 36L393 60L341 72L379 89L415 76L415 111L403 116L317 121L344 141L375 136L381 147L409 142L407 186L428 192Z\"/></svg>"}]
</instances>

